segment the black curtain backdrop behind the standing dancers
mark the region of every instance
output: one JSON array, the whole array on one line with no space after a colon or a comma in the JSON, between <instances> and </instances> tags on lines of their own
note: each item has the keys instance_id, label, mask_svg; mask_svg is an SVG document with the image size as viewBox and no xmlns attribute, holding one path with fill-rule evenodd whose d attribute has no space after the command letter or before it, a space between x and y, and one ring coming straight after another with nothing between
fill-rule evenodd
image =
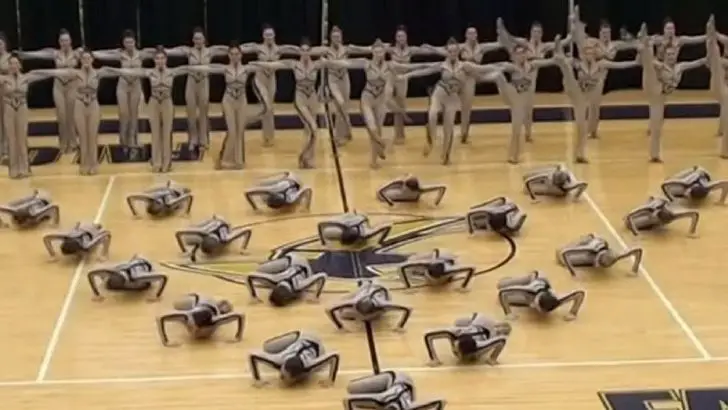
<instances>
[{"instance_id":1,"label":"black curtain backdrop behind the standing dancers","mask_svg":"<svg viewBox=\"0 0 728 410\"><path fill-rule=\"evenodd\" d=\"M302 37L314 43L321 41L322 0L21 0L0 2L0 29L5 32L11 47L34 50L54 47L60 29L67 29L74 44L82 45L82 27L85 45L94 49L117 48L122 31L137 32L141 46L159 44L176 46L189 44L194 27L205 29L210 44L230 41L258 41L261 28L270 24L276 29L279 44L297 44ZM83 18L80 16L80 4ZM599 22L607 19L614 34L620 26L636 32L642 21L650 32L658 32L666 17L671 17L680 34L697 35L705 31L705 22L713 13L718 29L728 32L728 1L725 0L588 0L582 1L582 19L588 31L596 35ZM18 25L17 15L20 15ZM564 0L329 0L330 26L337 25L344 32L346 42L366 45L381 38L390 41L399 24L407 26L410 43L441 45L449 37L462 40L468 26L478 29L483 41L495 39L495 20L502 17L508 29L516 35L526 36L532 22L539 21L545 38L552 39L566 31L568 3ZM724 17L725 16L725 17ZM81 23L81 21L83 22ZM20 27L19 27L20 26ZM700 58L704 47L685 47L682 60ZM504 52L494 52L485 61L504 60ZM252 57L251 57L252 58ZM632 59L634 53L624 52L619 59ZM173 59L170 65L183 64ZM52 67L48 61L27 61L25 69ZM211 98L218 101L222 95L223 80L213 76ZM290 73L279 74L279 101L292 99ZM105 80L100 95L102 104L114 104L115 80ZM608 89L638 88L640 69L610 74ZM184 103L184 78L175 84L175 103ZM410 88L411 96L424 96L432 84L431 79L416 79ZM539 77L539 91L557 92L561 89L558 69L544 69ZM363 75L352 73L353 95L358 96L363 86ZM707 69L698 69L685 75L682 88L707 88ZM30 95L32 107L52 107L50 82L33 87ZM490 85L479 87L480 93L494 93ZM251 95L251 98L252 95Z\"/></svg>"}]
</instances>

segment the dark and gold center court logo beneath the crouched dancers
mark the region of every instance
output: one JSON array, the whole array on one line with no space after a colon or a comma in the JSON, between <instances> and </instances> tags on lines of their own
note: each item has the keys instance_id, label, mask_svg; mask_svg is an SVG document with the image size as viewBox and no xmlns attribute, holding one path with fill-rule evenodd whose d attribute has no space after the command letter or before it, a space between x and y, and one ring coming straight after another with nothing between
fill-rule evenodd
<instances>
[{"instance_id":1,"label":"dark and gold center court logo beneath the crouched dancers","mask_svg":"<svg viewBox=\"0 0 728 410\"><path fill-rule=\"evenodd\" d=\"M338 214L307 215L251 224L252 243L255 243L256 235L275 236L275 232L281 231L283 223L314 218L323 220L335 215ZM484 262L482 266L476 265L476 275L483 275L502 267L516 253L516 244L513 239L503 237L504 243L482 243L483 249L478 249L478 255L460 255L458 247L462 246L461 241L464 241L464 235L467 235L462 217L391 213L369 213L368 215L372 218L387 218L393 222L390 222L392 229L387 235L379 238L374 246L363 250L325 249L318 235L314 234L281 244L269 252L253 251L249 256L233 260L197 263L165 262L162 263L162 266L167 269L210 276L244 285L246 275L255 271L259 264L284 255L296 254L306 258L314 272L326 272L329 275L325 293L348 293L356 288L356 279L359 278L377 278L391 290L403 289L396 267L415 253L429 252L435 248L453 251L458 256L469 256L467 259L470 260L482 260ZM276 224L278 224L277 227ZM373 225L376 223L373 222ZM478 248L480 247L479 245ZM358 272L360 276L356 276L355 272ZM422 283L414 285L422 286Z\"/></svg>"}]
</instances>

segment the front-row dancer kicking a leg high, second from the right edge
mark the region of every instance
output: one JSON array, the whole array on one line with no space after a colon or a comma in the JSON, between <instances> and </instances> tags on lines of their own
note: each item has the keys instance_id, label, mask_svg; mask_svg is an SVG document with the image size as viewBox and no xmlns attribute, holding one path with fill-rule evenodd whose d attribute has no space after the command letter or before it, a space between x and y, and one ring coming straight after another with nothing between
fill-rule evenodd
<instances>
[{"instance_id":1,"label":"front-row dancer kicking a leg high, second from the right edge","mask_svg":"<svg viewBox=\"0 0 728 410\"><path fill-rule=\"evenodd\" d=\"M638 39L640 42L639 58L645 73L645 82L642 87L647 92L650 104L650 161L662 162L660 153L662 151L662 125L665 121L665 100L677 89L685 71L705 65L707 59L701 58L678 63L678 48L669 47L664 51L664 60L657 61L652 43L647 36L647 26L644 23Z\"/></svg>"}]
</instances>

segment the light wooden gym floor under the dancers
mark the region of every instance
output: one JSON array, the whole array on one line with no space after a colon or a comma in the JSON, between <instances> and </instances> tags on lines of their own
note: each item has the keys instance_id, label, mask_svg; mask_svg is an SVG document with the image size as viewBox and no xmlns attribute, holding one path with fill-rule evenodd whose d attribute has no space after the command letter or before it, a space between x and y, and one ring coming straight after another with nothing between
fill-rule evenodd
<instances>
[{"instance_id":1,"label":"light wooden gym floor under the dancers","mask_svg":"<svg viewBox=\"0 0 728 410\"><path fill-rule=\"evenodd\" d=\"M394 293L396 300L414 306L415 311L405 334L392 333L388 326L375 331L382 368L409 372L420 398L444 397L454 410L601 409L600 390L725 383L725 209L710 205L701 210L699 239L686 238L687 228L682 225L664 235L634 239L620 223L627 211L649 194L658 193L665 177L684 167L701 164L715 177L728 176L728 166L715 155L716 122L668 120L664 165L646 162L645 127L645 121L604 122L602 139L589 143L591 164L572 167L590 183L588 195L579 203L538 204L522 194L521 174L530 166L568 159L570 124L537 124L535 143L527 146L520 166L503 163L507 124L475 126L472 144L456 144L454 165L449 168L439 166L435 157L421 157L422 130L410 128L406 146L396 147L388 163L376 172L366 166L366 136L356 130L354 142L341 156L345 186L351 206L370 213L374 224L406 220L402 214L462 215L470 205L496 195L513 198L529 214L525 230L517 238L516 257L505 267L475 279L470 293ZM132 219L125 195L164 178L135 165L105 164L104 174L80 178L70 159L64 159L38 167L39 175L32 180L0 181L0 200L23 195L31 188L49 191L61 206L62 227L95 220L111 230L111 261L140 253L155 262L180 262L173 232L213 213L235 224L267 221L254 229L250 257L255 257L278 244L314 234L316 223L323 218L315 215L342 210L329 145L322 138L318 168L299 173L314 189L314 216L276 222L249 211L243 190L261 176L295 168L298 138L299 132L281 132L275 149L263 150L259 133L252 132L247 144L250 161L243 172L213 172L210 156L202 163L177 165L171 177L191 187L196 195L189 219ZM442 206L389 210L376 203L374 190L405 172L426 182L447 184ZM5 403L4 408L337 409L347 380L371 372L364 333L336 332L324 317L324 306L340 294L324 294L320 305L303 303L276 310L249 305L242 287L168 271L170 285L159 303L116 298L96 303L91 301L85 279L85 272L96 262L80 266L48 262L41 244L44 232L0 232L4 280L0 328L5 333L0 341L0 403ZM617 248L643 246L645 270L640 277L627 277L628 266L621 266L605 277L571 279L556 265L554 250L589 232L612 239ZM481 269L508 253L502 240L468 238L464 233L427 238L405 251L434 247L457 252L463 262ZM554 317L539 322L522 315L500 367L453 367L446 348L442 349L443 367L426 367L425 330L448 325L471 312L500 317L496 281L532 269L546 272L557 290L587 289L587 301L577 321L567 323ZM332 281L330 290L344 290L345 286ZM229 298L245 312L248 325L243 342L162 347L155 317L170 309L176 297L191 291ZM328 349L343 355L342 374L335 387L251 387L246 353L265 338L292 329L318 333Z\"/></svg>"}]
</instances>

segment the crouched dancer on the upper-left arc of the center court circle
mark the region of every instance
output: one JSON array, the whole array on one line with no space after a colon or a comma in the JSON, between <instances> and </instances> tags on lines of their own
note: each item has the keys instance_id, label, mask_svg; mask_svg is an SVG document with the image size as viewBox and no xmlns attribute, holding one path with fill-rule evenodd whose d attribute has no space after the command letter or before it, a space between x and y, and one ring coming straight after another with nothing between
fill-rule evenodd
<instances>
[{"instance_id":1,"label":"crouched dancer on the upper-left arc of the center court circle","mask_svg":"<svg viewBox=\"0 0 728 410\"><path fill-rule=\"evenodd\" d=\"M225 219L213 215L212 218L180 229L175 233L177 245L182 253L188 254L192 262L197 262L197 251L207 257L220 256L238 239L241 239L240 253L248 248L253 231L247 226L232 226Z\"/></svg>"}]
</instances>

